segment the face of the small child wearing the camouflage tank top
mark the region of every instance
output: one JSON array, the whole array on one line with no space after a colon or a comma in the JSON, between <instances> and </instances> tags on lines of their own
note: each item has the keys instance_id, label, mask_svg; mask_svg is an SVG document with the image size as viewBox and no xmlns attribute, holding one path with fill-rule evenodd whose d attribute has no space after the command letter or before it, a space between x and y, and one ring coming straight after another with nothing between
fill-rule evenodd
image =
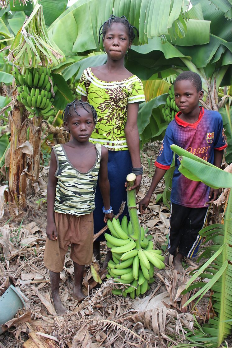
<instances>
[{"instance_id":1,"label":"face of the small child wearing the camouflage tank top","mask_svg":"<svg viewBox=\"0 0 232 348\"><path fill-rule=\"evenodd\" d=\"M68 116L68 121L64 122L64 126L67 131L70 131L73 139L84 143L89 140L95 127L93 113L82 107L79 107L77 112L80 116L76 113L73 116Z\"/></svg>"}]
</instances>

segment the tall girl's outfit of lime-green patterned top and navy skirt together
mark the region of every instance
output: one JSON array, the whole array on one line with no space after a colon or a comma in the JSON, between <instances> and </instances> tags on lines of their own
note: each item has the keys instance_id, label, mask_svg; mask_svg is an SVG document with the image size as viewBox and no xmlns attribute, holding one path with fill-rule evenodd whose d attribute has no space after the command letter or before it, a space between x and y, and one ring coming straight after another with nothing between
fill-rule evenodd
<instances>
[{"instance_id":1,"label":"tall girl's outfit of lime-green patterned top and navy skirt together","mask_svg":"<svg viewBox=\"0 0 232 348\"><path fill-rule=\"evenodd\" d=\"M91 68L87 68L80 78L77 92L87 96L87 101L97 111L97 124L89 140L104 145L109 150L110 201L114 214L117 214L122 201L127 201L124 184L132 166L125 136L127 106L145 101L143 84L135 75L121 81L106 82L99 80ZM105 226L103 200L98 185L95 207L94 233L97 233ZM128 215L127 204L123 213ZM122 216L123 214L119 217L120 220ZM97 240L104 240L104 236L101 235Z\"/></svg>"}]
</instances>

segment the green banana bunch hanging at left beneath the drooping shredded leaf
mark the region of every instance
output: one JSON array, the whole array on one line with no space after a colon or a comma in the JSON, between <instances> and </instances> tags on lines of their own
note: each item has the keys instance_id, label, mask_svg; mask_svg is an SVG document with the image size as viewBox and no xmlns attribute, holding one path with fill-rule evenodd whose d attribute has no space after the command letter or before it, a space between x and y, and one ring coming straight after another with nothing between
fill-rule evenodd
<instances>
[{"instance_id":1,"label":"green banana bunch hanging at left beneath the drooping shredded leaf","mask_svg":"<svg viewBox=\"0 0 232 348\"><path fill-rule=\"evenodd\" d=\"M15 83L18 86L17 100L22 103L27 111L43 119L53 116L55 109L52 108L57 86L53 85L51 70L41 66L35 68L23 68L25 74L19 72L14 66Z\"/></svg>"}]
</instances>

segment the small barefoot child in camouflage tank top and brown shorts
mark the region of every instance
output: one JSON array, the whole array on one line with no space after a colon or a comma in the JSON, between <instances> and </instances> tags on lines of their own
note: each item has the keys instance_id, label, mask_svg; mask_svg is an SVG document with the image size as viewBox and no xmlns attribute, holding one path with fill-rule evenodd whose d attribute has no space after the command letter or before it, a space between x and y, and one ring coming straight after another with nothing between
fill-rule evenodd
<instances>
[{"instance_id":1,"label":"small barefoot child in camouflage tank top and brown shorts","mask_svg":"<svg viewBox=\"0 0 232 348\"><path fill-rule=\"evenodd\" d=\"M73 297L78 301L85 298L81 286L85 265L91 263L93 257L93 211L98 176L104 221L113 218L107 176L108 150L89 142L97 121L96 110L89 103L74 100L66 106L63 119L71 137L66 144L55 145L51 152L44 254L57 314L67 312L59 297L59 278L69 245L74 264Z\"/></svg>"}]
</instances>

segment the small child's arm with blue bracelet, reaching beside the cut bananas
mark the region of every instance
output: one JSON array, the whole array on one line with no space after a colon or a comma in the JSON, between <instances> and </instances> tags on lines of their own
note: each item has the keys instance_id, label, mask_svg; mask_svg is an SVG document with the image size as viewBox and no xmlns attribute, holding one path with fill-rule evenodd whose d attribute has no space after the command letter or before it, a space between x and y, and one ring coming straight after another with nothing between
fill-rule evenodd
<instances>
[{"instance_id":1,"label":"small child's arm with blue bracelet, reaching beside the cut bananas","mask_svg":"<svg viewBox=\"0 0 232 348\"><path fill-rule=\"evenodd\" d=\"M108 179L108 150L102 146L101 163L99 168L98 183L102 194L102 199L104 203L105 210L110 209L110 182ZM113 213L105 214L104 222L108 219L113 219Z\"/></svg>"}]
</instances>

